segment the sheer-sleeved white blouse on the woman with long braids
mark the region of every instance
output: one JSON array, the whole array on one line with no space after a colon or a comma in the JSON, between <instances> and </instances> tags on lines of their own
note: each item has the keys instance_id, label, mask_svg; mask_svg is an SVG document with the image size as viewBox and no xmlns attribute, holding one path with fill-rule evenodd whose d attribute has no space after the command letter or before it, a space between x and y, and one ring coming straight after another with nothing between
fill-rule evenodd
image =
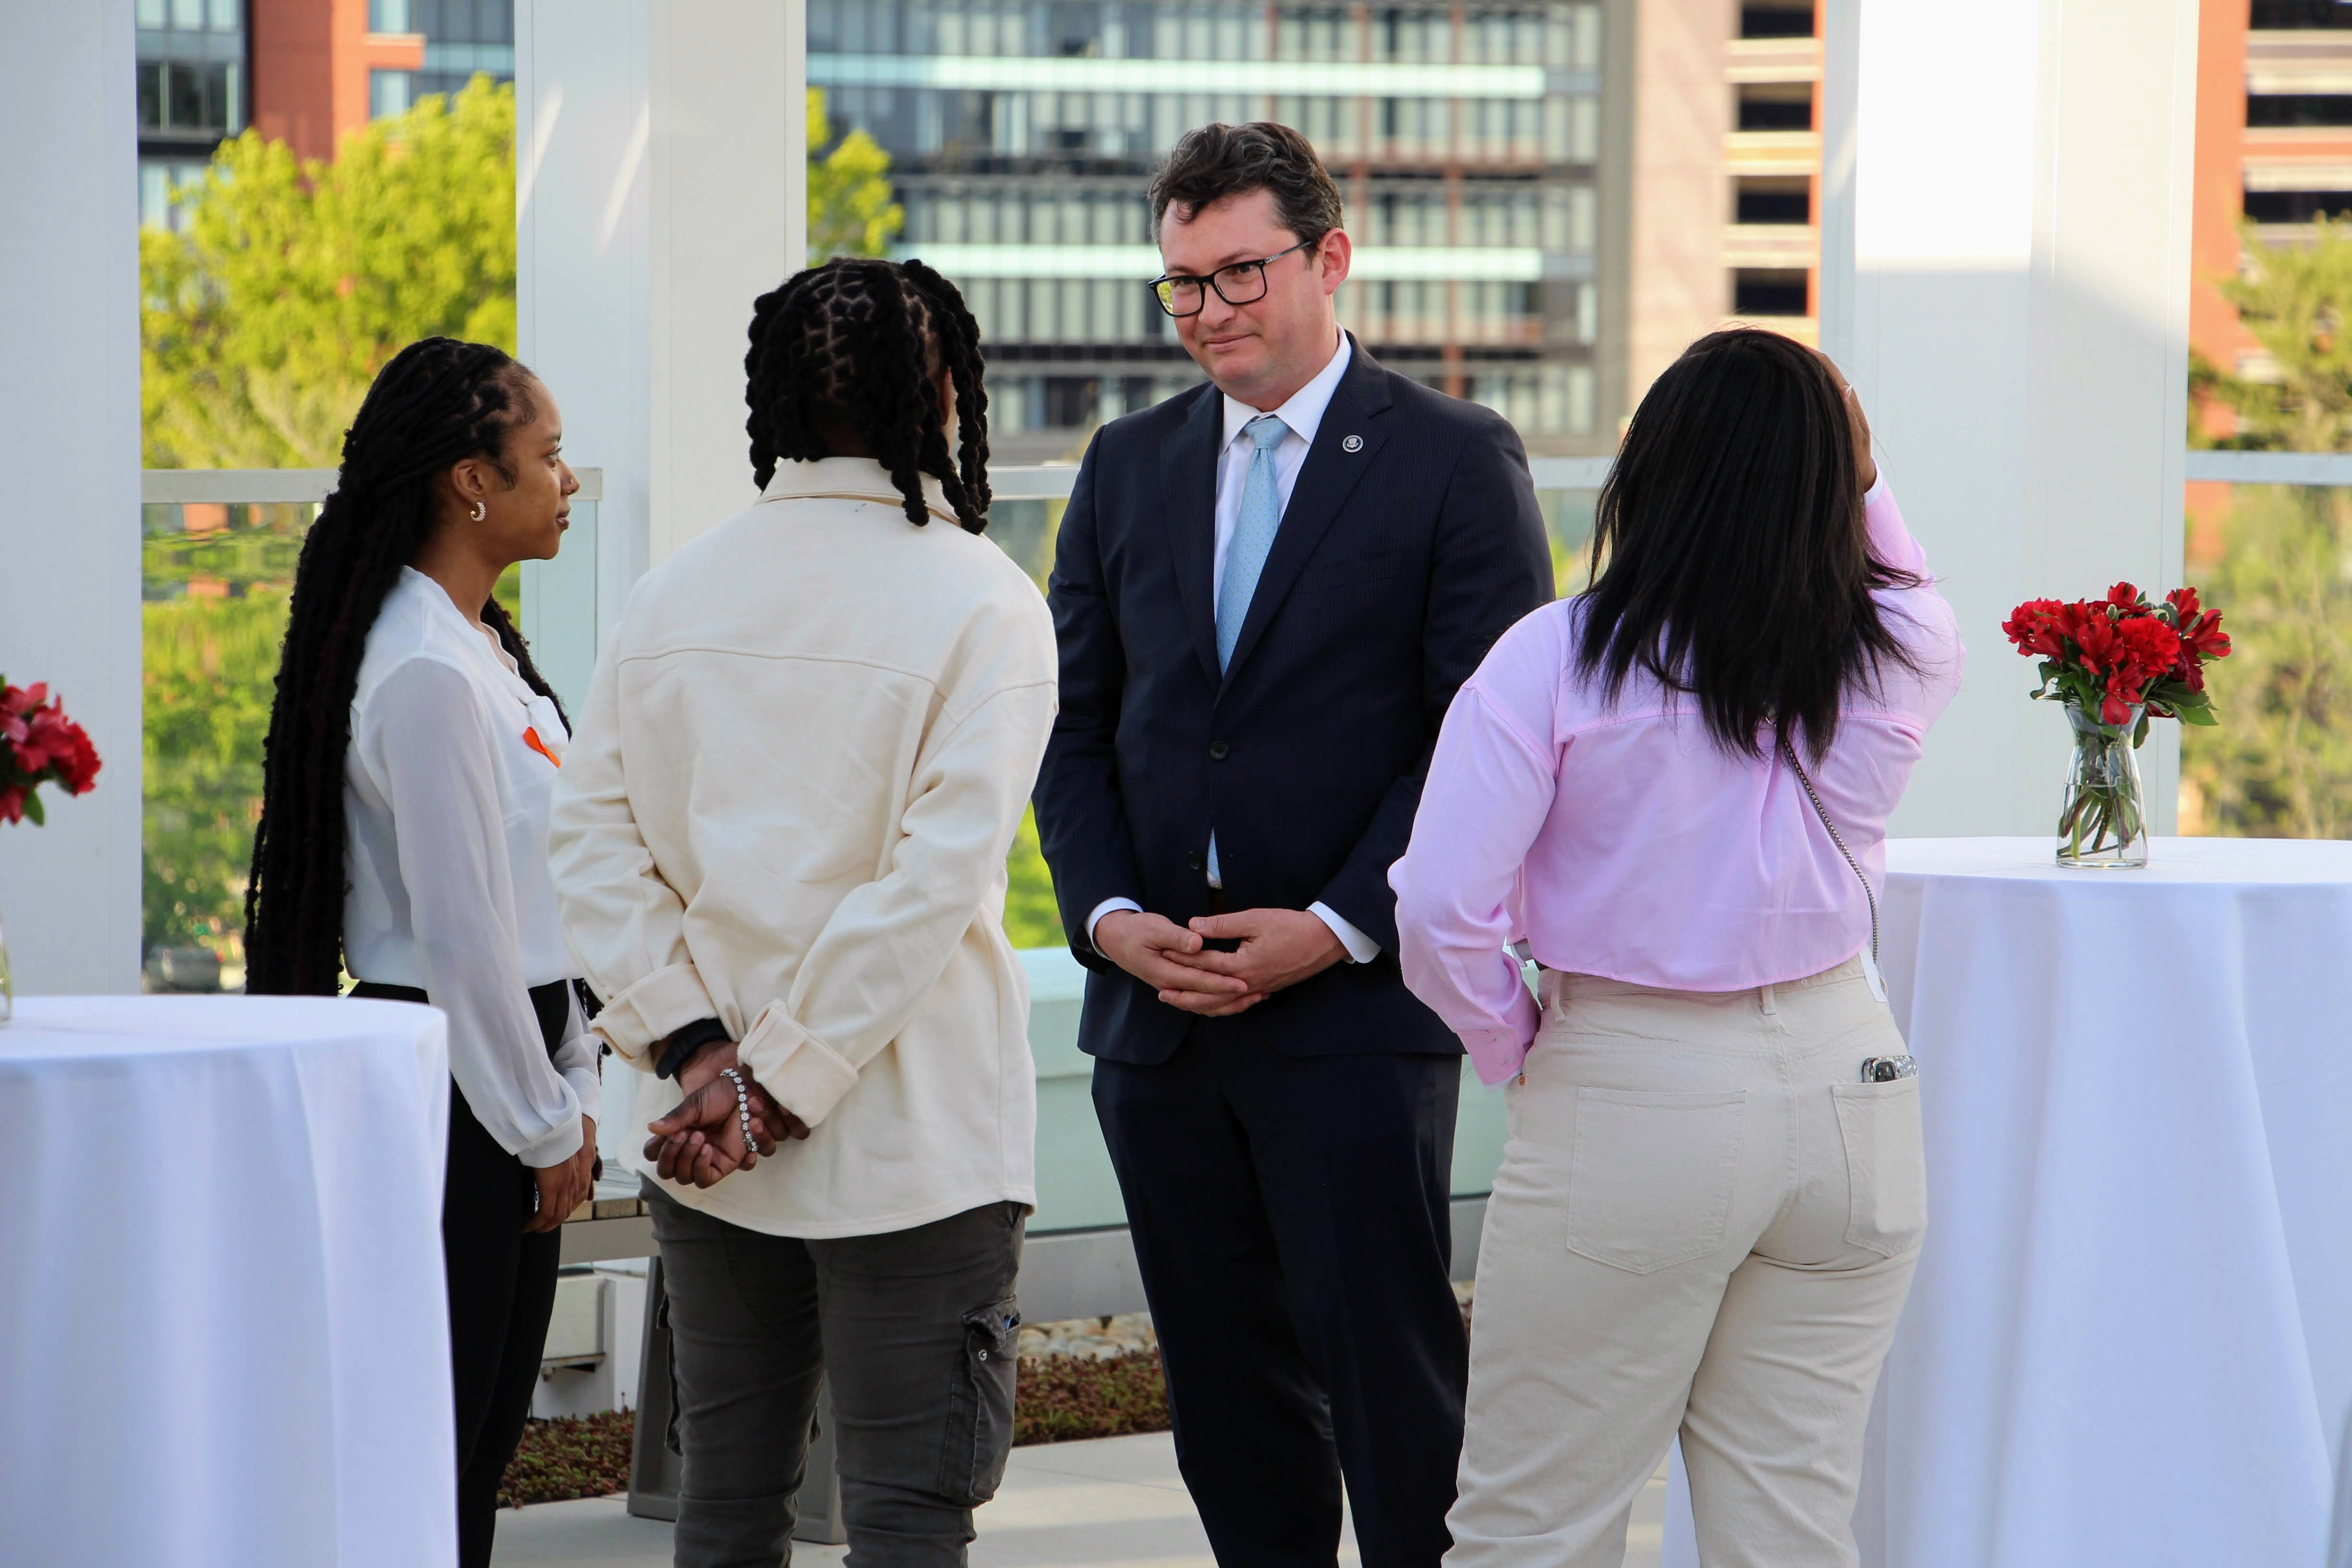
<instances>
[{"instance_id":1,"label":"sheer-sleeved white blouse on the woman with long braids","mask_svg":"<svg viewBox=\"0 0 2352 1568\"><path fill-rule=\"evenodd\" d=\"M496 635L402 567L367 632L343 780L343 961L449 1013L449 1074L527 1166L581 1147L597 1039L579 1001L548 1060L529 987L572 964L548 877L548 804L572 736Z\"/></svg>"}]
</instances>

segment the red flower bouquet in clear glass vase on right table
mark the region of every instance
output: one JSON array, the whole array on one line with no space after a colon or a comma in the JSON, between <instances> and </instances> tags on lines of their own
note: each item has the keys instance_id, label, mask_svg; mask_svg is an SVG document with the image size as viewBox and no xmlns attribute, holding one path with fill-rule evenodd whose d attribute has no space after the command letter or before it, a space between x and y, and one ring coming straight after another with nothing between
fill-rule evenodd
<instances>
[{"instance_id":1,"label":"red flower bouquet in clear glass vase on right table","mask_svg":"<svg viewBox=\"0 0 2352 1568\"><path fill-rule=\"evenodd\" d=\"M2133 750L2150 719L2216 724L2204 668L2230 656L2220 611L2176 588L2161 604L2131 583L2105 599L2027 599L2002 623L2037 658L2032 696L2065 703L2074 762L2058 818L2060 865L2147 865L2147 818Z\"/></svg>"}]
</instances>

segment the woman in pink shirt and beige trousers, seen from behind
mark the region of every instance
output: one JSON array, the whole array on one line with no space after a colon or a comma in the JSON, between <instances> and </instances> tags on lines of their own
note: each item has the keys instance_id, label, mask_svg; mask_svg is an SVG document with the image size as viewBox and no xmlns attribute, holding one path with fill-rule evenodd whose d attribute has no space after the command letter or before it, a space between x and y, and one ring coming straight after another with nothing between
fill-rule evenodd
<instances>
[{"instance_id":1,"label":"woman in pink shirt and beige trousers, seen from behind","mask_svg":"<svg viewBox=\"0 0 2352 1568\"><path fill-rule=\"evenodd\" d=\"M1926 1232L1875 900L1959 635L1853 393L1769 331L1658 376L1595 567L1454 698L1390 872L1510 1095L1446 1563L1621 1563L1679 1432L1708 1568L1846 1566Z\"/></svg>"}]
</instances>

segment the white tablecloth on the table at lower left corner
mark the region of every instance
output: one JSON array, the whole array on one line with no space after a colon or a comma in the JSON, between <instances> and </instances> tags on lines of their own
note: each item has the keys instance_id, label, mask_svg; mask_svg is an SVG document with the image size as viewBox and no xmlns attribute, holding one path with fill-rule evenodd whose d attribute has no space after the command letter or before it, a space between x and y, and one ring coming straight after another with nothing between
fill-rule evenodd
<instances>
[{"instance_id":1,"label":"white tablecloth on the table at lower left corner","mask_svg":"<svg viewBox=\"0 0 2352 1568\"><path fill-rule=\"evenodd\" d=\"M31 997L0 1027L0 1561L456 1561L440 1013Z\"/></svg>"}]
</instances>

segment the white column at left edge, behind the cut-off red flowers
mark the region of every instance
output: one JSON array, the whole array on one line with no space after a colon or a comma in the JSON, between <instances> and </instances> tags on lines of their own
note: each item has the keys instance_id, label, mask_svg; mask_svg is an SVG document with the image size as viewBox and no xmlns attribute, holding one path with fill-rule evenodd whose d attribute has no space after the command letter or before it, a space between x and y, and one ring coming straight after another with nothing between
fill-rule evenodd
<instances>
[{"instance_id":1,"label":"white column at left edge, behind the cut-off red flowers","mask_svg":"<svg viewBox=\"0 0 2352 1568\"><path fill-rule=\"evenodd\" d=\"M129 0L0 5L0 675L94 795L0 825L19 992L139 990L139 150Z\"/></svg>"}]
</instances>

